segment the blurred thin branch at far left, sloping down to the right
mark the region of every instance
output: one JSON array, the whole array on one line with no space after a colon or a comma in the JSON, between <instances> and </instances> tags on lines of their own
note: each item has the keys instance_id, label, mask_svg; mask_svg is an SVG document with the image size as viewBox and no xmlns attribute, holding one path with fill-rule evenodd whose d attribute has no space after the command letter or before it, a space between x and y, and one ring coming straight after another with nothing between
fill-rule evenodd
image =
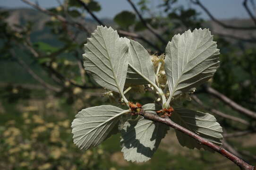
<instances>
[{"instance_id":1,"label":"blurred thin branch at far left, sloping down to the right","mask_svg":"<svg viewBox=\"0 0 256 170\"><path fill-rule=\"evenodd\" d=\"M60 88L54 87L54 86L52 86L52 85L46 83L41 77L37 76L37 75L34 73L34 71L33 71L31 68L29 68L29 67L26 65L26 63L25 63L22 59L19 59L18 57L16 57L16 54L15 54L12 50L10 51L10 53L11 53L12 57L13 57L14 59L16 59L17 62L18 62L23 68L25 68L26 71L27 71L36 81L38 81L38 82L41 83L44 87L46 87L46 88L48 88L48 89L50 89L50 90L52 90L52 91L54 91L54 92L60 92L60 90L61 90Z\"/></svg>"}]
</instances>

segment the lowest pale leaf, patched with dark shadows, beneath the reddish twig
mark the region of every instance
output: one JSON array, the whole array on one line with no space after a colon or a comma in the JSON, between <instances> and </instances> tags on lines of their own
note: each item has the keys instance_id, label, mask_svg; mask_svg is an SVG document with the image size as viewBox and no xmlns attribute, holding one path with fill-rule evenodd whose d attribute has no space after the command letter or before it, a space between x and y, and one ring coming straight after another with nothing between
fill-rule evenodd
<instances>
[{"instance_id":1,"label":"lowest pale leaf, patched with dark shadows, beneath the reddish twig","mask_svg":"<svg viewBox=\"0 0 256 170\"><path fill-rule=\"evenodd\" d=\"M154 103L145 104L142 108L156 114L153 111ZM121 151L124 158L132 162L150 160L168 130L168 126L144 119L142 116L139 116L137 121L128 120L121 130Z\"/></svg>"}]
</instances>

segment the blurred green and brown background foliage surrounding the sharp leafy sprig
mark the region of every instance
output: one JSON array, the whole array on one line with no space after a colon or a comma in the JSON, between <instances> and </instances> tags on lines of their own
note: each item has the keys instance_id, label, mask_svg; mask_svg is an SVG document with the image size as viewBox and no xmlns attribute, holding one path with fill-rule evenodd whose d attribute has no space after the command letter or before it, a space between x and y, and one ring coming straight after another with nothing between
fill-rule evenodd
<instances>
[{"instance_id":1,"label":"blurred green and brown background foliage surrounding the sharp leafy sprig","mask_svg":"<svg viewBox=\"0 0 256 170\"><path fill-rule=\"evenodd\" d=\"M224 128L223 147L256 164L256 117L230 107L207 90L211 86L256 112L256 19L252 11L248 10L249 19L222 21L213 16L204 20L194 8L174 8L178 0L159 0L157 13L150 8L151 0L128 0L133 11L101 19L95 12L105 7L97 0L63 0L60 6L48 9L23 1L35 9L0 8L1 170L238 169L217 153L181 147L172 130L152 160L145 163L123 159L119 135L97 148L77 149L70 127L77 111L113 101L120 105L83 69L83 46L97 25L112 26L158 56L174 34L209 28L221 50L221 67L184 104L213 113ZM243 5L251 8L253 2L244 0ZM199 0L188 3L206 8L207 13ZM142 104L154 100L144 89L129 93Z\"/></svg>"}]
</instances>

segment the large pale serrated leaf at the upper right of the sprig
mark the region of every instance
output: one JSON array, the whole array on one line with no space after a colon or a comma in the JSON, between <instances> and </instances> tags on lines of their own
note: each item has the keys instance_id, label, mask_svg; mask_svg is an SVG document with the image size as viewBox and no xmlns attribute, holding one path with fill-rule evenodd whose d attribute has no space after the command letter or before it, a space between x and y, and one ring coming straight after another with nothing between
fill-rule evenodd
<instances>
[{"instance_id":1,"label":"large pale serrated leaf at the upper right of the sprig","mask_svg":"<svg viewBox=\"0 0 256 170\"><path fill-rule=\"evenodd\" d=\"M165 72L170 98L187 92L213 76L219 67L219 54L208 29L188 30L175 35L166 47Z\"/></svg>"}]
</instances>

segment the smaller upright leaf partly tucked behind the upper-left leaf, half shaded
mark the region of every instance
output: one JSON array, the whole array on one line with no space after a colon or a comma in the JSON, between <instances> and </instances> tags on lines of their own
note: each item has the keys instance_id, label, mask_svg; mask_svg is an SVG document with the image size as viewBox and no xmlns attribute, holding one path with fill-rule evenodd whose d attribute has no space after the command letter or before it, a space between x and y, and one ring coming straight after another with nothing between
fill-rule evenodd
<instances>
[{"instance_id":1,"label":"smaller upright leaf partly tucked behind the upper-left leaf, half shaded","mask_svg":"<svg viewBox=\"0 0 256 170\"><path fill-rule=\"evenodd\" d=\"M130 40L126 83L145 85L149 84L147 80L155 83L154 66L151 57L140 43Z\"/></svg>"}]
</instances>

